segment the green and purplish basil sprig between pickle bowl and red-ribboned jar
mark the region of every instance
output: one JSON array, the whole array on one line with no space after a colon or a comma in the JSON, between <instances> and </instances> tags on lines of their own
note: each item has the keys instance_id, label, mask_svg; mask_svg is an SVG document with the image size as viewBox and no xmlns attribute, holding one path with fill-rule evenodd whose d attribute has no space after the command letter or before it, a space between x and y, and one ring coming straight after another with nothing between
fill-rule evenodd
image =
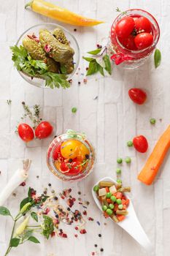
<instances>
[{"instance_id":1,"label":"green and purplish basil sprig between pickle bowl and red-ribboned jar","mask_svg":"<svg viewBox=\"0 0 170 256\"><path fill-rule=\"evenodd\" d=\"M106 70L109 75L112 75L112 66L109 55L107 54L107 46L96 50L90 50L88 54L90 54L90 57L82 57L85 61L89 62L86 75L94 75L97 72L100 72L101 75L104 76L104 70Z\"/></svg>"}]
</instances>

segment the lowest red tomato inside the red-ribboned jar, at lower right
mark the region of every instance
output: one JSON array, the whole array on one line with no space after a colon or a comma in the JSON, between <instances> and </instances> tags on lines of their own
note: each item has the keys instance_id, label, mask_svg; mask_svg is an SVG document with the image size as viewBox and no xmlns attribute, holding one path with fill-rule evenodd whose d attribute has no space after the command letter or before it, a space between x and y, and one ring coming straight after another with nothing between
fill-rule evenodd
<instances>
[{"instance_id":1,"label":"lowest red tomato inside the red-ribboned jar, at lower right","mask_svg":"<svg viewBox=\"0 0 170 256\"><path fill-rule=\"evenodd\" d=\"M143 50L152 45L153 36L150 33L140 33L136 35L134 42L138 50Z\"/></svg>"}]
</instances>

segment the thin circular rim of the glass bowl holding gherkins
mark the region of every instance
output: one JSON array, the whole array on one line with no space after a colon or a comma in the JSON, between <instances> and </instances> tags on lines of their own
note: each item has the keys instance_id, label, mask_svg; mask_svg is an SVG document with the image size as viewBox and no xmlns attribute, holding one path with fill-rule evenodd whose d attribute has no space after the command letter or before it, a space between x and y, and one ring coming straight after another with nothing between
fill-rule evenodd
<instances>
[{"instance_id":1,"label":"thin circular rim of the glass bowl holding gherkins","mask_svg":"<svg viewBox=\"0 0 170 256\"><path fill-rule=\"evenodd\" d=\"M75 64L75 67L74 67L74 71L71 73L71 74L68 74L68 78L66 80L70 80L72 78L72 76L74 75L74 73L77 71L77 68L80 64L80 47L78 45L78 42L77 42L77 39L74 37L74 35L68 30L68 29L65 29L63 26L59 25L58 23L52 23L52 22L44 22L44 23L39 23L39 24L36 24L34 26L31 26L29 27L28 29L26 29L25 31L23 31L23 33L20 35L20 37L18 38L17 42L15 43L15 45L19 45L19 42L20 42L20 39L23 37L24 34L26 34L30 29L34 29L38 26L45 26L45 25L51 25L51 26L56 26L56 27L59 27L60 29L62 29L63 31L66 31L66 33L69 34L70 37L72 37L76 47L77 47L77 55L78 55L78 58L77 58L77 63ZM24 73L20 70L18 70L18 73L20 74L20 76L26 80L25 76L24 76ZM38 79L41 79L43 80L42 78L38 78ZM34 83L31 83L31 82L28 82L28 80L26 80L27 83L30 83L31 85L33 86L36 86L38 88L41 88L41 89L50 89L50 87L48 86L38 86Z\"/></svg>"}]
</instances>

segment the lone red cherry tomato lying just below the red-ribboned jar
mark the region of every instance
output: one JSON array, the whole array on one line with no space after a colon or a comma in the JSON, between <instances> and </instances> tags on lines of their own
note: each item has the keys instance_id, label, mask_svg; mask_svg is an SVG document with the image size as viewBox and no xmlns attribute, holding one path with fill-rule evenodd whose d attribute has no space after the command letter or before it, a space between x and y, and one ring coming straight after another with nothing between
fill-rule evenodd
<instances>
[{"instance_id":1,"label":"lone red cherry tomato lying just below the red-ribboned jar","mask_svg":"<svg viewBox=\"0 0 170 256\"><path fill-rule=\"evenodd\" d=\"M128 96L138 105L144 104L145 100L147 99L146 92L139 88L131 88L128 91Z\"/></svg>"}]
</instances>

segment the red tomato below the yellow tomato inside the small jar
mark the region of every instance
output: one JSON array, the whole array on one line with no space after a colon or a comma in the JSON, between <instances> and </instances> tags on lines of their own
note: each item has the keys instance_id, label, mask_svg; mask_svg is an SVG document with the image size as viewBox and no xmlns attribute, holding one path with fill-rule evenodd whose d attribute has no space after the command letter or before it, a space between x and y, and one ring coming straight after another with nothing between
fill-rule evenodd
<instances>
[{"instance_id":1,"label":"red tomato below the yellow tomato inside the small jar","mask_svg":"<svg viewBox=\"0 0 170 256\"><path fill-rule=\"evenodd\" d=\"M82 165L80 161L75 160L72 163L62 162L61 163L61 172L67 176L72 176L80 173L82 170Z\"/></svg>"}]
</instances>

